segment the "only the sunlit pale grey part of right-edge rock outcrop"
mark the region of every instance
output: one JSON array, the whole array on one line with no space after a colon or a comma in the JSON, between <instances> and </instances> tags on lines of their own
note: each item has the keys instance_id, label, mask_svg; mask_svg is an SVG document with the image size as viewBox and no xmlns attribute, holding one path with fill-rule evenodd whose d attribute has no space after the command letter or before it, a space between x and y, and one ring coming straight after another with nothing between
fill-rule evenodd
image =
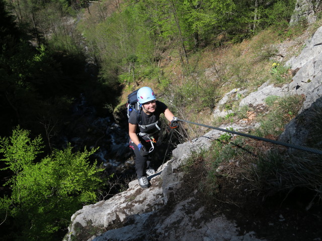
<instances>
[{"instance_id":1,"label":"only the sunlit pale grey part of right-edge rock outcrop","mask_svg":"<svg viewBox=\"0 0 322 241\"><path fill-rule=\"evenodd\" d=\"M285 65L297 70L291 83L274 87L266 82L257 91L241 99L239 106L264 104L265 98L270 95L304 95L302 111L322 96L322 27L305 43L301 54L292 57Z\"/></svg>"}]
</instances>

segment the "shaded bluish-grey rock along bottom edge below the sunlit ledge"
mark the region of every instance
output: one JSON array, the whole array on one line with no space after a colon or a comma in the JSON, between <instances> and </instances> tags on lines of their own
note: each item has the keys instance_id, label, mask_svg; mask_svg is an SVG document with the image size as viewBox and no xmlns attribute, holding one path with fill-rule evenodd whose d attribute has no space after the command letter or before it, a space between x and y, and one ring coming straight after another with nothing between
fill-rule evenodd
<instances>
[{"instance_id":1,"label":"shaded bluish-grey rock along bottom edge below the sunlit ledge","mask_svg":"<svg viewBox=\"0 0 322 241\"><path fill-rule=\"evenodd\" d=\"M205 210L198 207L194 198L184 200L166 211L167 215L160 217L156 212L135 215L130 225L110 230L95 241L141 240L262 240L253 233L238 235L235 223L227 221L224 216L205 218ZM198 225L196 226L196 224Z\"/></svg>"}]
</instances>

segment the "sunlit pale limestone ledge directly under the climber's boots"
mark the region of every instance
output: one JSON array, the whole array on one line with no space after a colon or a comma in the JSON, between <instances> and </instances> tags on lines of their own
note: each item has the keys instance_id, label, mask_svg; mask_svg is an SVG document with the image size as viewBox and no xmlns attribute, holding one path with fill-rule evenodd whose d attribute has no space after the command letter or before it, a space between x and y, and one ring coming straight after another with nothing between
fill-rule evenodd
<instances>
[{"instance_id":1,"label":"sunlit pale limestone ledge directly under the climber's boots","mask_svg":"<svg viewBox=\"0 0 322 241\"><path fill-rule=\"evenodd\" d=\"M123 222L128 216L156 210L164 204L160 177L151 180L149 189L141 189L137 180L132 181L131 188L116 194L106 201L84 206L71 217L69 233L64 240L71 241L77 236L77 229L89 225L99 228ZM135 185L136 184L136 185ZM78 239L77 239L78 240Z\"/></svg>"}]
</instances>

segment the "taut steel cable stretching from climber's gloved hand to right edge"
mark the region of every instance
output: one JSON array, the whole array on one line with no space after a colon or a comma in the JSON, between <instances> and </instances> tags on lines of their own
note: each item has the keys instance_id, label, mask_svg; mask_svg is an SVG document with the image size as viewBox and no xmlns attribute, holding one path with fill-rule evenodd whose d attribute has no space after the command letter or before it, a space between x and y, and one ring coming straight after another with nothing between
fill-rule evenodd
<instances>
[{"instance_id":1,"label":"taut steel cable stretching from climber's gloved hand to right edge","mask_svg":"<svg viewBox=\"0 0 322 241\"><path fill-rule=\"evenodd\" d=\"M184 119L179 119L179 118L176 118L176 119L177 119L177 121L180 121L180 122L186 122L186 123L194 124L194 125L201 126L201 127L215 129L215 130L218 130L218 131L221 131L221 132L228 132L230 134L234 134L234 135L238 135L238 136L248 137L248 138L252 138L252 139L256 139L256 140L260 140L260 141L264 141L264 142L270 142L270 143L280 145L280 146L285 146L285 147L289 147L289 148L293 148L293 149L297 149L297 150L302 150L302 151L322 155L322 151L318 150L318 149L315 149L315 148L303 147L303 146L293 145L293 144L289 144L289 143L274 141L274 140L267 139L267 138L248 135L248 134L245 134L245 133L225 130L225 129L221 129L221 128L217 128L217 127L211 127L211 126L202 125L202 124L195 123L195 122L189 122L189 121L185 121Z\"/></svg>"}]
</instances>

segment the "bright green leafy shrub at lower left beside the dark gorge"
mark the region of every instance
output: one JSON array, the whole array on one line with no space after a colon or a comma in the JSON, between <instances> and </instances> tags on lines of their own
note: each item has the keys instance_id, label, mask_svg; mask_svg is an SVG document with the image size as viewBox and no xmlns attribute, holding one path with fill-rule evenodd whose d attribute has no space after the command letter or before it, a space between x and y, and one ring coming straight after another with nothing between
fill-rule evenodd
<instances>
[{"instance_id":1,"label":"bright green leafy shrub at lower left beside the dark gorge","mask_svg":"<svg viewBox=\"0 0 322 241\"><path fill-rule=\"evenodd\" d=\"M53 233L66 227L76 210L97 200L102 169L88 161L96 149L73 153L68 145L40 159L42 139L32 140L29 135L17 127L10 138L0 138L0 161L5 163L1 171L12 172L5 183L11 192L0 198L0 212L20 223L19 230L11 234L16 235L12 240L19 236L56 240Z\"/></svg>"}]
</instances>

